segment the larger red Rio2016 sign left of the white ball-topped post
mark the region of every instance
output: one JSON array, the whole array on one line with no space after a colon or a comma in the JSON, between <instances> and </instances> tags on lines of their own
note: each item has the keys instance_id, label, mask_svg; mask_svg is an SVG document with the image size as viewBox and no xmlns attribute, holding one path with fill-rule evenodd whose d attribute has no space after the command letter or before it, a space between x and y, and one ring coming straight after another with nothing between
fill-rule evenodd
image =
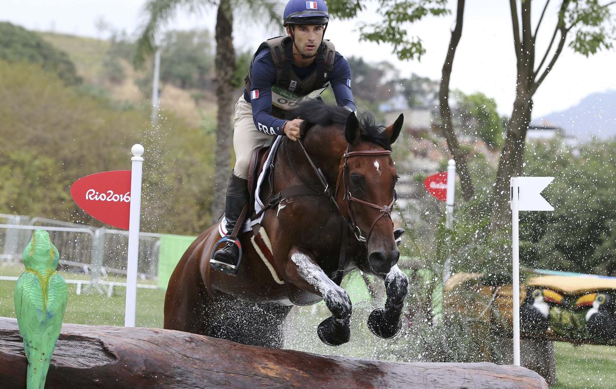
<instances>
[{"instance_id":1,"label":"larger red Rio2016 sign left of the white ball-topped post","mask_svg":"<svg viewBox=\"0 0 616 389\"><path fill-rule=\"evenodd\" d=\"M100 172L79 178L71 197L95 219L128 230L131 212L131 170Z\"/></svg>"}]
</instances>

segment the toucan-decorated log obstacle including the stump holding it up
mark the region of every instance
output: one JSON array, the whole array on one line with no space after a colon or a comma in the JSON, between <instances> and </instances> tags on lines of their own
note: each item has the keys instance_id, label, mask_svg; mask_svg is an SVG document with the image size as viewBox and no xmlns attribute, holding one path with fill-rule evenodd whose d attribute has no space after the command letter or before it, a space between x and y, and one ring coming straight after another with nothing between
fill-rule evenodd
<instances>
[{"instance_id":1,"label":"toucan-decorated log obstacle including the stump holding it up","mask_svg":"<svg viewBox=\"0 0 616 389\"><path fill-rule=\"evenodd\" d=\"M556 383L553 341L616 345L616 278L568 274L533 276L520 290L521 363L550 384ZM513 347L510 275L453 275L445 286L444 312L469 319L488 361L511 363L499 359ZM493 353L495 348L500 352Z\"/></svg>"}]
</instances>

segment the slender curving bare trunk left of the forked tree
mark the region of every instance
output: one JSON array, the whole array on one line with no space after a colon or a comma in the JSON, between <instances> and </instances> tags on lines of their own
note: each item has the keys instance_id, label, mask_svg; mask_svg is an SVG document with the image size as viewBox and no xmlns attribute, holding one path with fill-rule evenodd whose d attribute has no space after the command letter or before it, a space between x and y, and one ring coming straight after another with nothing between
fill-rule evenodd
<instances>
[{"instance_id":1,"label":"slender curving bare trunk left of the forked tree","mask_svg":"<svg viewBox=\"0 0 616 389\"><path fill-rule=\"evenodd\" d=\"M452 122L452 110L449 106L449 81L452 74L453 57L456 54L456 48L460 42L462 36L462 23L464 20L464 0L458 0L458 12L456 14L456 26L452 31L452 38L449 41L449 49L447 50L447 57L445 57L445 63L443 65L442 78L440 81L439 90L439 109L440 109L440 121L442 122L443 133L445 140L447 140L447 147L452 153L453 160L456 162L456 171L460 175L460 185L462 188L462 198L469 201L474 195L474 188L472 185L471 175L466 165L466 158L461 153L460 143L458 143L458 137L455 134L455 129Z\"/></svg>"}]
</instances>

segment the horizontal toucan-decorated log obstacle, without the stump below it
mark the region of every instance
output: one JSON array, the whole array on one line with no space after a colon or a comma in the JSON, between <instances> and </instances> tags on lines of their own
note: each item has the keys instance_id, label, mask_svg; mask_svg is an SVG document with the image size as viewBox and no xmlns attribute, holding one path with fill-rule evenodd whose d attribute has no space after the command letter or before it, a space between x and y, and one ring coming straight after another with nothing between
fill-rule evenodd
<instances>
[{"instance_id":1,"label":"horizontal toucan-decorated log obstacle, without the stump below it","mask_svg":"<svg viewBox=\"0 0 616 389\"><path fill-rule=\"evenodd\" d=\"M489 285L479 273L458 273L445 288L474 288L482 296L477 310L480 318L493 331L511 334L513 293L510 282ZM455 293L450 293L447 305L458 307ZM498 310L504 321L496 321L487 303ZM522 337L558 340L570 343L616 345L616 278L581 274L540 275L526 279L520 291L520 321ZM465 304L465 315L473 308Z\"/></svg>"}]
</instances>

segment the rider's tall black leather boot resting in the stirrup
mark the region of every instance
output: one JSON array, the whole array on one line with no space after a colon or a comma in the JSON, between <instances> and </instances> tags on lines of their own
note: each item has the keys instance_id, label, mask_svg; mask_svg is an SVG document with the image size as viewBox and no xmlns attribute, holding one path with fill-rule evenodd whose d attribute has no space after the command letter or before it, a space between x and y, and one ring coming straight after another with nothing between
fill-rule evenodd
<instances>
[{"instance_id":1,"label":"rider's tall black leather boot resting in the stirrup","mask_svg":"<svg viewBox=\"0 0 616 389\"><path fill-rule=\"evenodd\" d=\"M225 204L225 219L227 220L227 238L233 232L238 223L241 211L248 203L248 180L231 175L229 186L227 186L227 199ZM240 220L243 223L243 220ZM241 228L241 227L240 227ZM239 235L239 234L238 234ZM216 270L224 271L227 274L237 273L240 249L235 241L227 241L222 249L214 253L214 258L209 261L209 265Z\"/></svg>"}]
</instances>

